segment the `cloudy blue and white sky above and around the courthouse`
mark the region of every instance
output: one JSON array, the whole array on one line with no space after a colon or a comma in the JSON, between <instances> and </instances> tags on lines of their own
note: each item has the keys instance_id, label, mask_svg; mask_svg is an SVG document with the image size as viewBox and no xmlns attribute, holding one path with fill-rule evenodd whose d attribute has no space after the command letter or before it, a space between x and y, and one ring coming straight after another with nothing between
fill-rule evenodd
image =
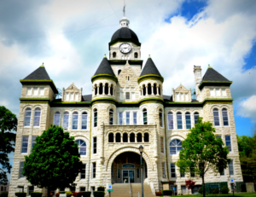
<instances>
[{"instance_id":1,"label":"cloudy blue and white sky above and around the courthouse","mask_svg":"<svg viewBox=\"0 0 256 197\"><path fill-rule=\"evenodd\" d=\"M165 78L164 95L195 89L193 67L208 64L230 81L236 132L256 124L256 1L126 0L125 15ZM20 79L42 62L57 88L74 83L91 94L108 43L119 29L123 0L0 0L0 106L18 116ZM13 162L13 154L9 155Z\"/></svg>"}]
</instances>

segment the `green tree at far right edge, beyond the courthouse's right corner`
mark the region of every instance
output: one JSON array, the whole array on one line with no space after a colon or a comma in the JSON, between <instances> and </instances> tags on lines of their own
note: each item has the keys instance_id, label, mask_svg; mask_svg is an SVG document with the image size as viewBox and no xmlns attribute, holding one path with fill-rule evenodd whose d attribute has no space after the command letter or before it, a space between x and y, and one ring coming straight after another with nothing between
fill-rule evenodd
<instances>
[{"instance_id":1,"label":"green tree at far right edge, beyond the courthouse's right corner","mask_svg":"<svg viewBox=\"0 0 256 197\"><path fill-rule=\"evenodd\" d=\"M237 136L241 172L246 183L256 182L256 134Z\"/></svg>"}]
</instances>

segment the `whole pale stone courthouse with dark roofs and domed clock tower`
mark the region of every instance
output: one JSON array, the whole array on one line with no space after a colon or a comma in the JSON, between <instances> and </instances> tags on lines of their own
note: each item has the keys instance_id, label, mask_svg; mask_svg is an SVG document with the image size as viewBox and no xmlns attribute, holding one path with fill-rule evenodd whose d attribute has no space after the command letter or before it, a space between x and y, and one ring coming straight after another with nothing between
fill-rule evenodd
<instances>
[{"instance_id":1,"label":"whole pale stone courthouse with dark roofs and domed clock tower","mask_svg":"<svg viewBox=\"0 0 256 197\"><path fill-rule=\"evenodd\" d=\"M187 193L185 180L195 180L200 187L201 179L193 171L181 173L175 162L183 140L199 116L212 122L216 135L229 148L231 159L221 174L207 173L206 183L227 183L230 187L230 177L242 182L232 82L212 67L202 75L201 67L191 65L188 72L195 78L196 98L192 96L194 90L184 87L183 81L163 95L164 78L157 62L149 56L143 63L142 43L129 28L130 21L123 17L119 23L119 30L108 43L109 59L104 56L99 67L92 68L96 70L94 76L87 76L91 77L91 92L84 94L71 82L63 88L61 98L56 98L58 90L44 65L20 80L20 113L9 196L15 196L17 189L27 194L43 191L45 195L46 189L33 187L26 180L22 168L35 138L50 125L61 125L74 136L84 164L75 181L77 186L66 190L125 184L129 177L131 183L141 183L138 148L143 145L143 182L152 193L169 187L175 187L177 194ZM166 71L169 72L168 64Z\"/></svg>"}]
</instances>

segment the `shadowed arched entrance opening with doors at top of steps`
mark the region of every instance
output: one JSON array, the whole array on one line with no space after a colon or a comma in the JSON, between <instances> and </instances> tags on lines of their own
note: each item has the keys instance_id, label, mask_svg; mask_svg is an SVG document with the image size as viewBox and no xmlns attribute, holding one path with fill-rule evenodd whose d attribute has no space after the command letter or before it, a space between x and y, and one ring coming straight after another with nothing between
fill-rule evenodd
<instances>
[{"instance_id":1,"label":"shadowed arched entrance opening with doors at top of steps","mask_svg":"<svg viewBox=\"0 0 256 197\"><path fill-rule=\"evenodd\" d=\"M125 152L119 154L111 166L112 183L141 183L141 158L139 154ZM143 180L148 177L148 166L143 159Z\"/></svg>"}]
</instances>

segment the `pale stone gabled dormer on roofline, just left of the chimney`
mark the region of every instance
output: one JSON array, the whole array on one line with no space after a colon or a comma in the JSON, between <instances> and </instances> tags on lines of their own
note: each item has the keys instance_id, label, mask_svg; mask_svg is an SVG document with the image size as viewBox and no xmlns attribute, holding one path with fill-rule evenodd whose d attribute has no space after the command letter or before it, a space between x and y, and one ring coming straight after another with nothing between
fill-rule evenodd
<instances>
[{"instance_id":1,"label":"pale stone gabled dormer on roofline, just left of the chimney","mask_svg":"<svg viewBox=\"0 0 256 197\"><path fill-rule=\"evenodd\" d=\"M175 102L191 102L191 89L188 90L180 84L177 89L172 89L172 99Z\"/></svg>"}]
</instances>

